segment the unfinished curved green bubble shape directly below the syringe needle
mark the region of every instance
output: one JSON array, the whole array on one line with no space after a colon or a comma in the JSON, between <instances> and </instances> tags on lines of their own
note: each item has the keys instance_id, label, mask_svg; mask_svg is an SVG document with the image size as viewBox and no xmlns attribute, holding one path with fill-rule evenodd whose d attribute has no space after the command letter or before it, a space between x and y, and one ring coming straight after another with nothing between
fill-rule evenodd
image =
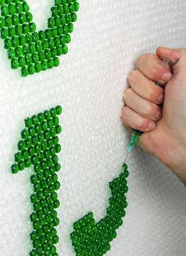
<instances>
[{"instance_id":1,"label":"unfinished curved green bubble shape directly below the syringe needle","mask_svg":"<svg viewBox=\"0 0 186 256\"><path fill-rule=\"evenodd\" d=\"M110 242L117 237L117 228L123 224L128 205L125 194L128 191L128 166L122 166L121 174L110 182L111 197L106 216L97 224L93 213L73 224L71 240L77 256L101 256L110 250Z\"/></svg>"}]
</instances>

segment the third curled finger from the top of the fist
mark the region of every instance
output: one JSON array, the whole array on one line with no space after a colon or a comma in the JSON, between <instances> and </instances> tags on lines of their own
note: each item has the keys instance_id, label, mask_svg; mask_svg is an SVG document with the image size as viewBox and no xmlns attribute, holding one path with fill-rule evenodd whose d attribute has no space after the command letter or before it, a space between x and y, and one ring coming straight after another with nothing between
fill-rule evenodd
<instances>
[{"instance_id":1,"label":"third curled finger from the top of the fist","mask_svg":"<svg viewBox=\"0 0 186 256\"><path fill-rule=\"evenodd\" d=\"M152 121L162 118L162 108L150 101L144 100L132 88L128 88L124 94L125 104L139 115Z\"/></svg>"}]
</instances>

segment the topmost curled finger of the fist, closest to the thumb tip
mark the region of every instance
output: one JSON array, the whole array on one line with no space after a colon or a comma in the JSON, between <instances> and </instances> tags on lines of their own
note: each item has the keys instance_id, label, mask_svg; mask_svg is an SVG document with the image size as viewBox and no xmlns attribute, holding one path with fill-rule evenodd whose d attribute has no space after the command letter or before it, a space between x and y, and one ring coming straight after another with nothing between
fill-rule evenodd
<instances>
[{"instance_id":1,"label":"topmost curled finger of the fist, closest to the thumb tip","mask_svg":"<svg viewBox=\"0 0 186 256\"><path fill-rule=\"evenodd\" d=\"M172 77L170 69L166 68L156 55L139 56L136 66L146 77L162 84L166 84Z\"/></svg>"}]
</instances>

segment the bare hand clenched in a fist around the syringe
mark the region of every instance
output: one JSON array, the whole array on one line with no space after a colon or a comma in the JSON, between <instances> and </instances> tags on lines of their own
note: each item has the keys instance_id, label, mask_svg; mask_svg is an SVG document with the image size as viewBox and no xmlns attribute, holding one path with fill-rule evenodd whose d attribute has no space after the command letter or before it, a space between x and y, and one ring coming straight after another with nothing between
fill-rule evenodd
<instances>
[{"instance_id":1,"label":"bare hand clenched in a fist around the syringe","mask_svg":"<svg viewBox=\"0 0 186 256\"><path fill-rule=\"evenodd\" d=\"M128 75L121 119L143 131L139 146L186 183L186 49L158 47L155 55L139 56L136 67Z\"/></svg>"}]
</instances>

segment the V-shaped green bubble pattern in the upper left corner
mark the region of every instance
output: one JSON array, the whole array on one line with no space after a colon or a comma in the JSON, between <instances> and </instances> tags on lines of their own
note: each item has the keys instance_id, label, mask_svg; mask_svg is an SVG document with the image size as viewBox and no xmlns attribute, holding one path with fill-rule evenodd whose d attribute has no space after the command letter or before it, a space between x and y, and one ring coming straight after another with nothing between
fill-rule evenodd
<instances>
[{"instance_id":1,"label":"V-shaped green bubble pattern in the upper left corner","mask_svg":"<svg viewBox=\"0 0 186 256\"><path fill-rule=\"evenodd\" d=\"M26 77L59 66L58 56L66 55L67 43L80 7L76 0L55 0L48 28L36 32L30 7L24 0L0 0L1 38L5 42L13 69Z\"/></svg>"}]
</instances>

